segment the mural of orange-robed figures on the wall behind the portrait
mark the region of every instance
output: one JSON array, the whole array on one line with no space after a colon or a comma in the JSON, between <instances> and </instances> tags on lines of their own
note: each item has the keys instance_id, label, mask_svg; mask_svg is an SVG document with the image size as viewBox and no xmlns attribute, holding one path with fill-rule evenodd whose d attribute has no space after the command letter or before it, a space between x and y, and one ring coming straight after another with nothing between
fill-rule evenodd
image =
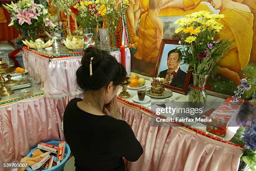
<instances>
[{"instance_id":1,"label":"mural of orange-robed figures on the wall behind the portrait","mask_svg":"<svg viewBox=\"0 0 256 171\"><path fill-rule=\"evenodd\" d=\"M240 79L256 77L256 0L129 0L125 19L132 53L132 71L152 77L162 39L179 40L174 22L200 10L224 14L219 38L233 42L208 80L215 92L233 94ZM225 84L224 84L225 83ZM250 97L248 91L245 96Z\"/></svg>"}]
</instances>

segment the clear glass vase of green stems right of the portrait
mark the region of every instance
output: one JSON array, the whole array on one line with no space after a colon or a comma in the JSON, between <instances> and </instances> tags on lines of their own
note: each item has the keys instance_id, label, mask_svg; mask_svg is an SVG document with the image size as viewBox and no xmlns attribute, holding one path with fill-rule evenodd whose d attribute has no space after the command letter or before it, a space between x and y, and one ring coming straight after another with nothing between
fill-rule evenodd
<instances>
[{"instance_id":1,"label":"clear glass vase of green stems right of the portrait","mask_svg":"<svg viewBox=\"0 0 256 171\"><path fill-rule=\"evenodd\" d=\"M189 105L191 107L200 108L206 103L207 93L205 85L209 75L192 74L193 75L193 88L189 92Z\"/></svg>"}]
</instances>

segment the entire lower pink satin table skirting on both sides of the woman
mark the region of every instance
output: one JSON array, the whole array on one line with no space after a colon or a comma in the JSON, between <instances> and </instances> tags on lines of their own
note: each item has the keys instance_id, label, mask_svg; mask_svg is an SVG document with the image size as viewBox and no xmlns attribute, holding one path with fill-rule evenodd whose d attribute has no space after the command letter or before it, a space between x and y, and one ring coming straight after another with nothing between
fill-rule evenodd
<instances>
[{"instance_id":1,"label":"entire lower pink satin table skirting on both sides of the woman","mask_svg":"<svg viewBox=\"0 0 256 171\"><path fill-rule=\"evenodd\" d=\"M0 161L20 160L40 141L64 140L61 121L69 100L35 97L0 107ZM151 127L141 109L118 102L123 120L133 129L144 153L128 162L129 171L237 171L241 148L183 127Z\"/></svg>"}]
</instances>

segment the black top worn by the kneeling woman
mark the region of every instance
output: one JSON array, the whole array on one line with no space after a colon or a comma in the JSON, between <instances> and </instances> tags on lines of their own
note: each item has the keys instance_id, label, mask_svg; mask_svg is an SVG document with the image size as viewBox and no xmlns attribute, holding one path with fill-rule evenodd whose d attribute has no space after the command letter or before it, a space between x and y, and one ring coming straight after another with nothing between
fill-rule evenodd
<instances>
[{"instance_id":1,"label":"black top worn by the kneeling woman","mask_svg":"<svg viewBox=\"0 0 256 171\"><path fill-rule=\"evenodd\" d=\"M64 112L64 135L75 158L76 171L125 171L122 157L137 161L143 153L133 130L123 120L93 115L71 100Z\"/></svg>"}]
</instances>

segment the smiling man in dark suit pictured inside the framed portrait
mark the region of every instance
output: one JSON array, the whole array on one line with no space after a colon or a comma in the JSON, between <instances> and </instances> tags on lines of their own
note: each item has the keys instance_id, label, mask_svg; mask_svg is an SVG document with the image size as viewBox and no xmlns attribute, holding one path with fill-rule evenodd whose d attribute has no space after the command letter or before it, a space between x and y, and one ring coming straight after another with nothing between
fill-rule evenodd
<instances>
[{"instance_id":1,"label":"smiling man in dark suit pictured inside the framed portrait","mask_svg":"<svg viewBox=\"0 0 256 171\"><path fill-rule=\"evenodd\" d=\"M179 59L179 56L182 55L182 53L181 51L176 51L176 48L172 51L169 51L167 57L168 69L161 71L159 73L159 77L165 78L165 85L182 89L184 86L187 73L179 68L180 62L177 61Z\"/></svg>"}]
</instances>

